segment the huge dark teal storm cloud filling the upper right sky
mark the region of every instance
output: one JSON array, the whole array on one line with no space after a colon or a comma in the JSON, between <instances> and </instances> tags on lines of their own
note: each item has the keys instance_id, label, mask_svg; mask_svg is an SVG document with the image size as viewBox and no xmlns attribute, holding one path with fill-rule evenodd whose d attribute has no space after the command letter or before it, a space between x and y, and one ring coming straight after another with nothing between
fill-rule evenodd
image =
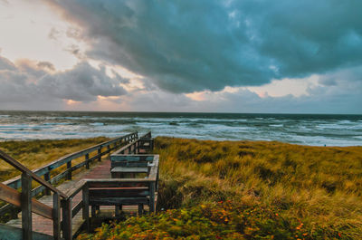
<instances>
[{"instance_id":1,"label":"huge dark teal storm cloud filling the upper right sky","mask_svg":"<svg viewBox=\"0 0 362 240\"><path fill-rule=\"evenodd\" d=\"M362 1L47 0L90 57L167 91L262 85L362 64Z\"/></svg>"}]
</instances>

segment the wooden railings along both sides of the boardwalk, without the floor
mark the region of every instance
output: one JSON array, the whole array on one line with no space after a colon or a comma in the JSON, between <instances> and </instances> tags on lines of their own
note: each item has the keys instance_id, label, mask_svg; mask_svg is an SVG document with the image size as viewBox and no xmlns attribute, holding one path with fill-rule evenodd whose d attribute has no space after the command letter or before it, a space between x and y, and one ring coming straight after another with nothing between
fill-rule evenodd
<instances>
[{"instance_id":1,"label":"wooden railings along both sides of the boardwalk, without the floor","mask_svg":"<svg viewBox=\"0 0 362 240\"><path fill-rule=\"evenodd\" d=\"M47 164L43 168L38 168L33 171L24 167L21 163L16 161L14 158L11 158L4 151L0 150L0 159L4 159L7 163L9 163L14 168L20 170L22 172L21 178L13 178L4 183L0 183L0 197L5 202L10 203L14 206L20 206L22 209L22 228L23 228L23 237L24 239L31 239L32 232L32 213L39 214L46 218L52 219L53 221L53 237L58 240L62 238L66 240L72 239L73 235L71 234L71 222L72 217L74 217L81 209L82 209L82 218L85 220L85 226L87 230L90 229L90 216L89 216L89 207L90 204L94 205L94 201L90 203L90 190L94 191L96 189L90 189L89 187L117 187L117 186L138 186L139 184L145 184L149 187L149 209L150 212L155 211L156 209L156 200L155 200L155 191L157 191L157 180L158 180L158 155L154 155L154 161L152 166L149 166L148 178L120 178L120 179L82 179L78 181L75 185L68 189L65 192L57 189L52 186L52 183L56 183L61 178L71 179L71 172L75 169L81 168L82 166L86 166L89 168L89 164L94 159L101 160L101 157L105 154L110 154L113 149L119 148L119 146L123 146L124 143L129 143L125 147L128 148L129 154L134 153L137 156L139 154L139 149L142 147L141 138L145 141L150 140L151 132L146 133L142 137L138 138L138 132L133 132L128 135L111 139L110 141L106 141L90 147L88 149L83 149L81 151L69 154L62 158L58 158L50 164ZM153 142L150 146L153 146ZM113 144L113 145L112 145ZM102 148L107 147L107 150L102 151ZM124 149L123 147L122 149ZM97 155L92 156L92 152L98 152ZM90 156L92 156L90 158ZM71 166L71 160L75 158L85 157L85 161L77 164L75 166ZM66 164L67 169L63 171L61 174L58 174L54 178L50 178L50 173L52 169L59 168L62 165ZM67 175L70 174L70 175ZM41 177L44 177L41 178ZM21 180L21 182L20 182ZM38 192L39 187L33 189L32 192L32 180L35 180L39 184L40 187L45 187L45 189L51 190L53 194L52 207L44 205L40 201L34 199L34 192ZM22 186L22 191L19 193L16 189ZM14 189L15 188L15 189ZM72 206L72 198L77 194L82 195L81 201ZM49 193L45 193L49 194ZM145 193L142 193L145 195ZM147 197L143 196L142 197ZM62 197L62 199L61 199ZM148 200L147 200L148 201ZM138 205L142 205L143 202L138 203ZM93 213L93 205L92 213ZM138 213L139 213L138 206ZM62 211L62 215L61 215ZM117 215L117 208L116 208ZM61 217L62 216L62 217ZM62 227L61 227L62 225Z\"/></svg>"}]
</instances>

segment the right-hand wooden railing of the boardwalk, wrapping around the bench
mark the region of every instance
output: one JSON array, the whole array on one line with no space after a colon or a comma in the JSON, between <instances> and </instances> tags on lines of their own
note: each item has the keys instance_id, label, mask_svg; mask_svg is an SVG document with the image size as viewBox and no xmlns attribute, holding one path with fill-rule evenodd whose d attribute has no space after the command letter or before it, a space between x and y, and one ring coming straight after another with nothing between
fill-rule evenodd
<instances>
[{"instance_id":1,"label":"right-hand wooden railing of the boardwalk, wrapping around the bench","mask_svg":"<svg viewBox=\"0 0 362 240\"><path fill-rule=\"evenodd\" d=\"M146 134L150 137L150 132ZM143 138L142 136L141 138ZM148 138L144 138L148 139ZM140 139L130 142L123 146L112 155L118 154L138 154L142 149ZM138 155L131 155L138 156ZM142 155L148 157L150 155ZM96 217L96 209L100 206L119 206L119 201L124 204L135 203L147 204L149 211L156 210L155 193L157 191L158 180L158 155L152 155L152 162L149 165L148 178L98 178L98 179L82 179L71 189L65 192L68 196L62 199L62 236L64 239L71 239L75 234L72 233L73 217L81 212L84 226L89 232L90 230L90 212L91 216ZM81 199L74 203L73 199L77 195L81 195ZM122 199L120 199L122 198ZM140 199L142 198L142 199ZM147 200L146 200L147 198ZM72 206L74 204L74 206ZM138 207L139 209L139 207ZM116 216L117 207L116 207Z\"/></svg>"}]
</instances>

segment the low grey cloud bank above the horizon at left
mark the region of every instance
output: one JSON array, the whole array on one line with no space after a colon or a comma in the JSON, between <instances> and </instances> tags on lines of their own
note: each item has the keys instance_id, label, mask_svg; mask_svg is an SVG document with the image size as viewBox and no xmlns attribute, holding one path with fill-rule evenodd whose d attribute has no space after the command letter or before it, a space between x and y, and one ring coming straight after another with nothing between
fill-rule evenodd
<instances>
[{"instance_id":1,"label":"low grey cloud bank above the horizon at left","mask_svg":"<svg viewBox=\"0 0 362 240\"><path fill-rule=\"evenodd\" d=\"M23 108L39 104L37 109L54 103L62 109L62 102L97 101L98 96L121 96L127 91L119 84L127 82L119 74L106 74L104 66L96 69L88 62L80 62L71 70L55 72L51 62L19 60L15 63L0 56L0 107L9 109L16 102ZM35 105L36 105L35 104ZM18 107L18 105L16 105Z\"/></svg>"}]
</instances>

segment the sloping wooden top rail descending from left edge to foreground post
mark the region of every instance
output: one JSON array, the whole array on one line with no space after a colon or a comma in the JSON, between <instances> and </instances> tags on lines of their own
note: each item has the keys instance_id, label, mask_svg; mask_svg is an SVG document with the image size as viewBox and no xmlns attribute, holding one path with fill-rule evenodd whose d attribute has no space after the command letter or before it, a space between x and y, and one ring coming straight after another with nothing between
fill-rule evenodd
<instances>
[{"instance_id":1,"label":"sloping wooden top rail descending from left edge to foreground post","mask_svg":"<svg viewBox=\"0 0 362 240\"><path fill-rule=\"evenodd\" d=\"M20 170L23 173L28 174L30 177L32 177L35 181L37 181L38 183L40 183L41 185L48 187L50 190L52 190L52 192L54 193L58 193L59 196L66 198L67 195L62 193L61 190L57 189L56 187L53 187L52 184L46 182L45 180L43 180L43 178L38 177L36 174L34 174L31 170L29 170L28 168L26 168L23 164L21 164L20 162L16 161L14 158L10 157L9 155L7 155L4 151L0 150L0 158L2 158L3 160L5 160L5 162L7 162L8 164L10 164L11 166L13 166L14 168Z\"/></svg>"}]
</instances>

